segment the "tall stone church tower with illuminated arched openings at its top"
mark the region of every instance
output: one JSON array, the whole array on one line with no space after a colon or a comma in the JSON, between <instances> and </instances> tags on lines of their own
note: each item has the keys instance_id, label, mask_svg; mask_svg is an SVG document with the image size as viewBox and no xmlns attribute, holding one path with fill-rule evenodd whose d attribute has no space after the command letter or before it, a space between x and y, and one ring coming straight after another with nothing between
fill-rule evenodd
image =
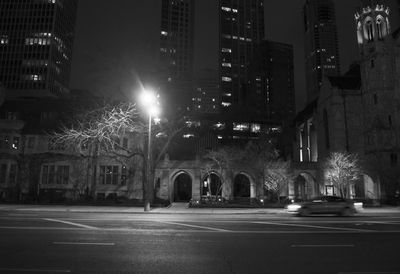
<instances>
[{"instance_id":1,"label":"tall stone church tower with illuminated arched openings at its top","mask_svg":"<svg viewBox=\"0 0 400 274\"><path fill-rule=\"evenodd\" d=\"M385 186L394 185L399 155L399 85L396 35L384 0L362 1L355 14L360 49L364 154ZM382 173L383 170L386 170ZM383 176L382 176L383 175ZM386 187L385 187L386 188ZM385 189L387 194L392 190Z\"/></svg>"}]
</instances>

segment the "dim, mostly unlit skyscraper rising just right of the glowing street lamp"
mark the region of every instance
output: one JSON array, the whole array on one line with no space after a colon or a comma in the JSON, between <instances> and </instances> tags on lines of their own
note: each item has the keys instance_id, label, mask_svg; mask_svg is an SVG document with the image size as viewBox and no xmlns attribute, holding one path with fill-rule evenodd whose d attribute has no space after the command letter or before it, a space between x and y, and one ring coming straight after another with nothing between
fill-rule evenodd
<instances>
[{"instance_id":1,"label":"dim, mostly unlit skyscraper rising just right of the glowing street lamp","mask_svg":"<svg viewBox=\"0 0 400 274\"><path fill-rule=\"evenodd\" d=\"M171 113L191 105L194 0L162 0L160 84Z\"/></svg>"}]
</instances>

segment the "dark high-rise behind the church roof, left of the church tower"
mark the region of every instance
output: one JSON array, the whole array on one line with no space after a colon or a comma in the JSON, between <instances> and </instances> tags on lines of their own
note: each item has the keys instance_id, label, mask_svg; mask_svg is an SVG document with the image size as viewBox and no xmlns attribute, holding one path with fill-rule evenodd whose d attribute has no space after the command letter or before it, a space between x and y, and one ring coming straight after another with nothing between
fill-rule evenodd
<instances>
[{"instance_id":1,"label":"dark high-rise behind the church roof, left of the church tower","mask_svg":"<svg viewBox=\"0 0 400 274\"><path fill-rule=\"evenodd\" d=\"M307 101L318 97L323 76L340 74L335 6L332 0L307 0L304 5Z\"/></svg>"}]
</instances>

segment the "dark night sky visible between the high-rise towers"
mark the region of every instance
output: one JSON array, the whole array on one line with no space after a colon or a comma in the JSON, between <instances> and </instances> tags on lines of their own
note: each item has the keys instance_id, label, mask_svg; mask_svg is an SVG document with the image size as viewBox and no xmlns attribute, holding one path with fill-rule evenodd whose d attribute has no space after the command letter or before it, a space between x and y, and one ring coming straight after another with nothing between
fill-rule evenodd
<instances>
[{"instance_id":1,"label":"dark night sky visible between the high-rise towers","mask_svg":"<svg viewBox=\"0 0 400 274\"><path fill-rule=\"evenodd\" d=\"M389 0L394 2L394 0ZM297 111L305 101L302 6L305 0L266 0L266 38L294 46ZM354 12L359 0L336 0L342 73L358 57ZM112 4L111 4L112 3ZM218 67L216 0L196 0L195 71ZM394 7L394 6L392 6ZM392 30L398 25L392 8ZM161 0L80 0L71 88L133 96L151 83L159 52Z\"/></svg>"}]
</instances>

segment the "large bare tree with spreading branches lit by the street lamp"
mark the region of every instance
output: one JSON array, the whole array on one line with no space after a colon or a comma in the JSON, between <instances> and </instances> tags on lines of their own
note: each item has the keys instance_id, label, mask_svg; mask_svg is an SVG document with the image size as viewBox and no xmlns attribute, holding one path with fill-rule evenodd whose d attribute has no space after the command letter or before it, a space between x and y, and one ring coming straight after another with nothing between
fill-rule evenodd
<instances>
[{"instance_id":1,"label":"large bare tree with spreading branches lit by the street lamp","mask_svg":"<svg viewBox=\"0 0 400 274\"><path fill-rule=\"evenodd\" d=\"M150 179L146 184L145 165L143 165L143 199L145 208L150 208L150 203L154 199L152 182L154 169L157 163L166 153L171 139L180 131L180 127L174 123L162 123L152 130L155 138L153 150L154 156L151 158ZM84 111L73 119L71 123L65 125L61 130L53 132L50 137L55 145L66 146L68 149L78 153L82 157L91 159L92 192L96 185L96 167L100 154L108 155L116 160L121 158L131 158L140 156L144 162L144 137L147 132L147 124L143 123L132 103L117 103L114 105L102 105L91 111ZM138 142L134 146L125 147L118 141L122 136L136 136ZM151 184L151 185L150 185ZM92 193L93 194L93 193Z\"/></svg>"}]
</instances>

